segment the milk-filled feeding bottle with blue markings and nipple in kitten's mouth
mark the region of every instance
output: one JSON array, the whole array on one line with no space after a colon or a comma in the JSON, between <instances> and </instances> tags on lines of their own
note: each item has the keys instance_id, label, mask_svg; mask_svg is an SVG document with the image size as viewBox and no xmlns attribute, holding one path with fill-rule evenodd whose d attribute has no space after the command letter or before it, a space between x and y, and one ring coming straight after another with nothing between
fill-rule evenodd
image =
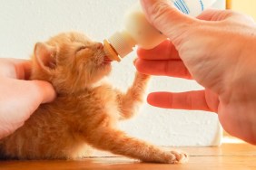
<instances>
[{"instance_id":1,"label":"milk-filled feeding bottle with blue markings and nipple in kitten's mouth","mask_svg":"<svg viewBox=\"0 0 256 170\"><path fill-rule=\"evenodd\" d=\"M216 0L171 1L182 13L197 16ZM167 38L152 24L149 24L139 3L127 11L124 21L124 28L121 32L113 33L110 38L104 40L104 51L114 61L121 61L123 57L133 52L135 45L144 49L153 49Z\"/></svg>"}]
</instances>

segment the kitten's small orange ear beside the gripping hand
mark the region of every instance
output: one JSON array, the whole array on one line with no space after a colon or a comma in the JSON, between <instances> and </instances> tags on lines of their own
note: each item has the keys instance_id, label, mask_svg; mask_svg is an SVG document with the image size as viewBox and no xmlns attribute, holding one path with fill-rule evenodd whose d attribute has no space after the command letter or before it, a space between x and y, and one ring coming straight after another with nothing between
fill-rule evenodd
<instances>
[{"instance_id":1,"label":"kitten's small orange ear beside the gripping hand","mask_svg":"<svg viewBox=\"0 0 256 170\"><path fill-rule=\"evenodd\" d=\"M56 66L56 52L56 47L37 42L34 46L35 61L44 71L51 71Z\"/></svg>"}]
</instances>

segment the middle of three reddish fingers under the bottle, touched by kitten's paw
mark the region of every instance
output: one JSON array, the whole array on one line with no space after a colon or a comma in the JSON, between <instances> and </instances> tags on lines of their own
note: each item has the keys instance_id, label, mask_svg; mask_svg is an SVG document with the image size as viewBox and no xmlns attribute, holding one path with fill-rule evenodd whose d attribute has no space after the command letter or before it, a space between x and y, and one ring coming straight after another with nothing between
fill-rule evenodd
<instances>
[{"instance_id":1,"label":"middle of three reddish fingers under the bottle, touched by kitten's paw","mask_svg":"<svg viewBox=\"0 0 256 170\"><path fill-rule=\"evenodd\" d=\"M191 73L187 70L182 61L149 61L137 59L134 65L137 71L144 74L192 79Z\"/></svg>"}]
</instances>

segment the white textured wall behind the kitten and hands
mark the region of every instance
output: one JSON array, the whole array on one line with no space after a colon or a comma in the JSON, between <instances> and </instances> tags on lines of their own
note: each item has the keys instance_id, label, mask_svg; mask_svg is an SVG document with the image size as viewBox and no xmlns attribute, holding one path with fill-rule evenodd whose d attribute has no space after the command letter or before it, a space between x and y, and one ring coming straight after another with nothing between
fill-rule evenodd
<instances>
[{"instance_id":1,"label":"white textured wall behind the kitten and hands","mask_svg":"<svg viewBox=\"0 0 256 170\"><path fill-rule=\"evenodd\" d=\"M28 59L34 43L56 33L80 31L103 42L122 27L124 11L137 0L0 0L0 57ZM218 0L216 6L223 8ZM125 90L133 81L135 52L113 63L111 80ZM154 77L148 91L201 89L189 80ZM217 115L202 111L157 109L144 104L136 118L123 122L127 133L160 146L219 145Z\"/></svg>"}]
</instances>

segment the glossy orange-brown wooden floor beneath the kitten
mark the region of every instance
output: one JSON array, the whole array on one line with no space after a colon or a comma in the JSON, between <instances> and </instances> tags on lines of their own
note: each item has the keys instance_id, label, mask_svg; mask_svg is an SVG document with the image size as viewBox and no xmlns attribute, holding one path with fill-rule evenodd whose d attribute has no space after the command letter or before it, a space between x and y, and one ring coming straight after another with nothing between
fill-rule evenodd
<instances>
[{"instance_id":1,"label":"glossy orange-brown wooden floor beneath the kitten","mask_svg":"<svg viewBox=\"0 0 256 170\"><path fill-rule=\"evenodd\" d=\"M78 161L0 161L0 170L78 170L78 169L190 169L190 170L256 170L256 146L223 144L216 147L182 147L190 155L182 165L145 164L124 157L93 157Z\"/></svg>"}]
</instances>

